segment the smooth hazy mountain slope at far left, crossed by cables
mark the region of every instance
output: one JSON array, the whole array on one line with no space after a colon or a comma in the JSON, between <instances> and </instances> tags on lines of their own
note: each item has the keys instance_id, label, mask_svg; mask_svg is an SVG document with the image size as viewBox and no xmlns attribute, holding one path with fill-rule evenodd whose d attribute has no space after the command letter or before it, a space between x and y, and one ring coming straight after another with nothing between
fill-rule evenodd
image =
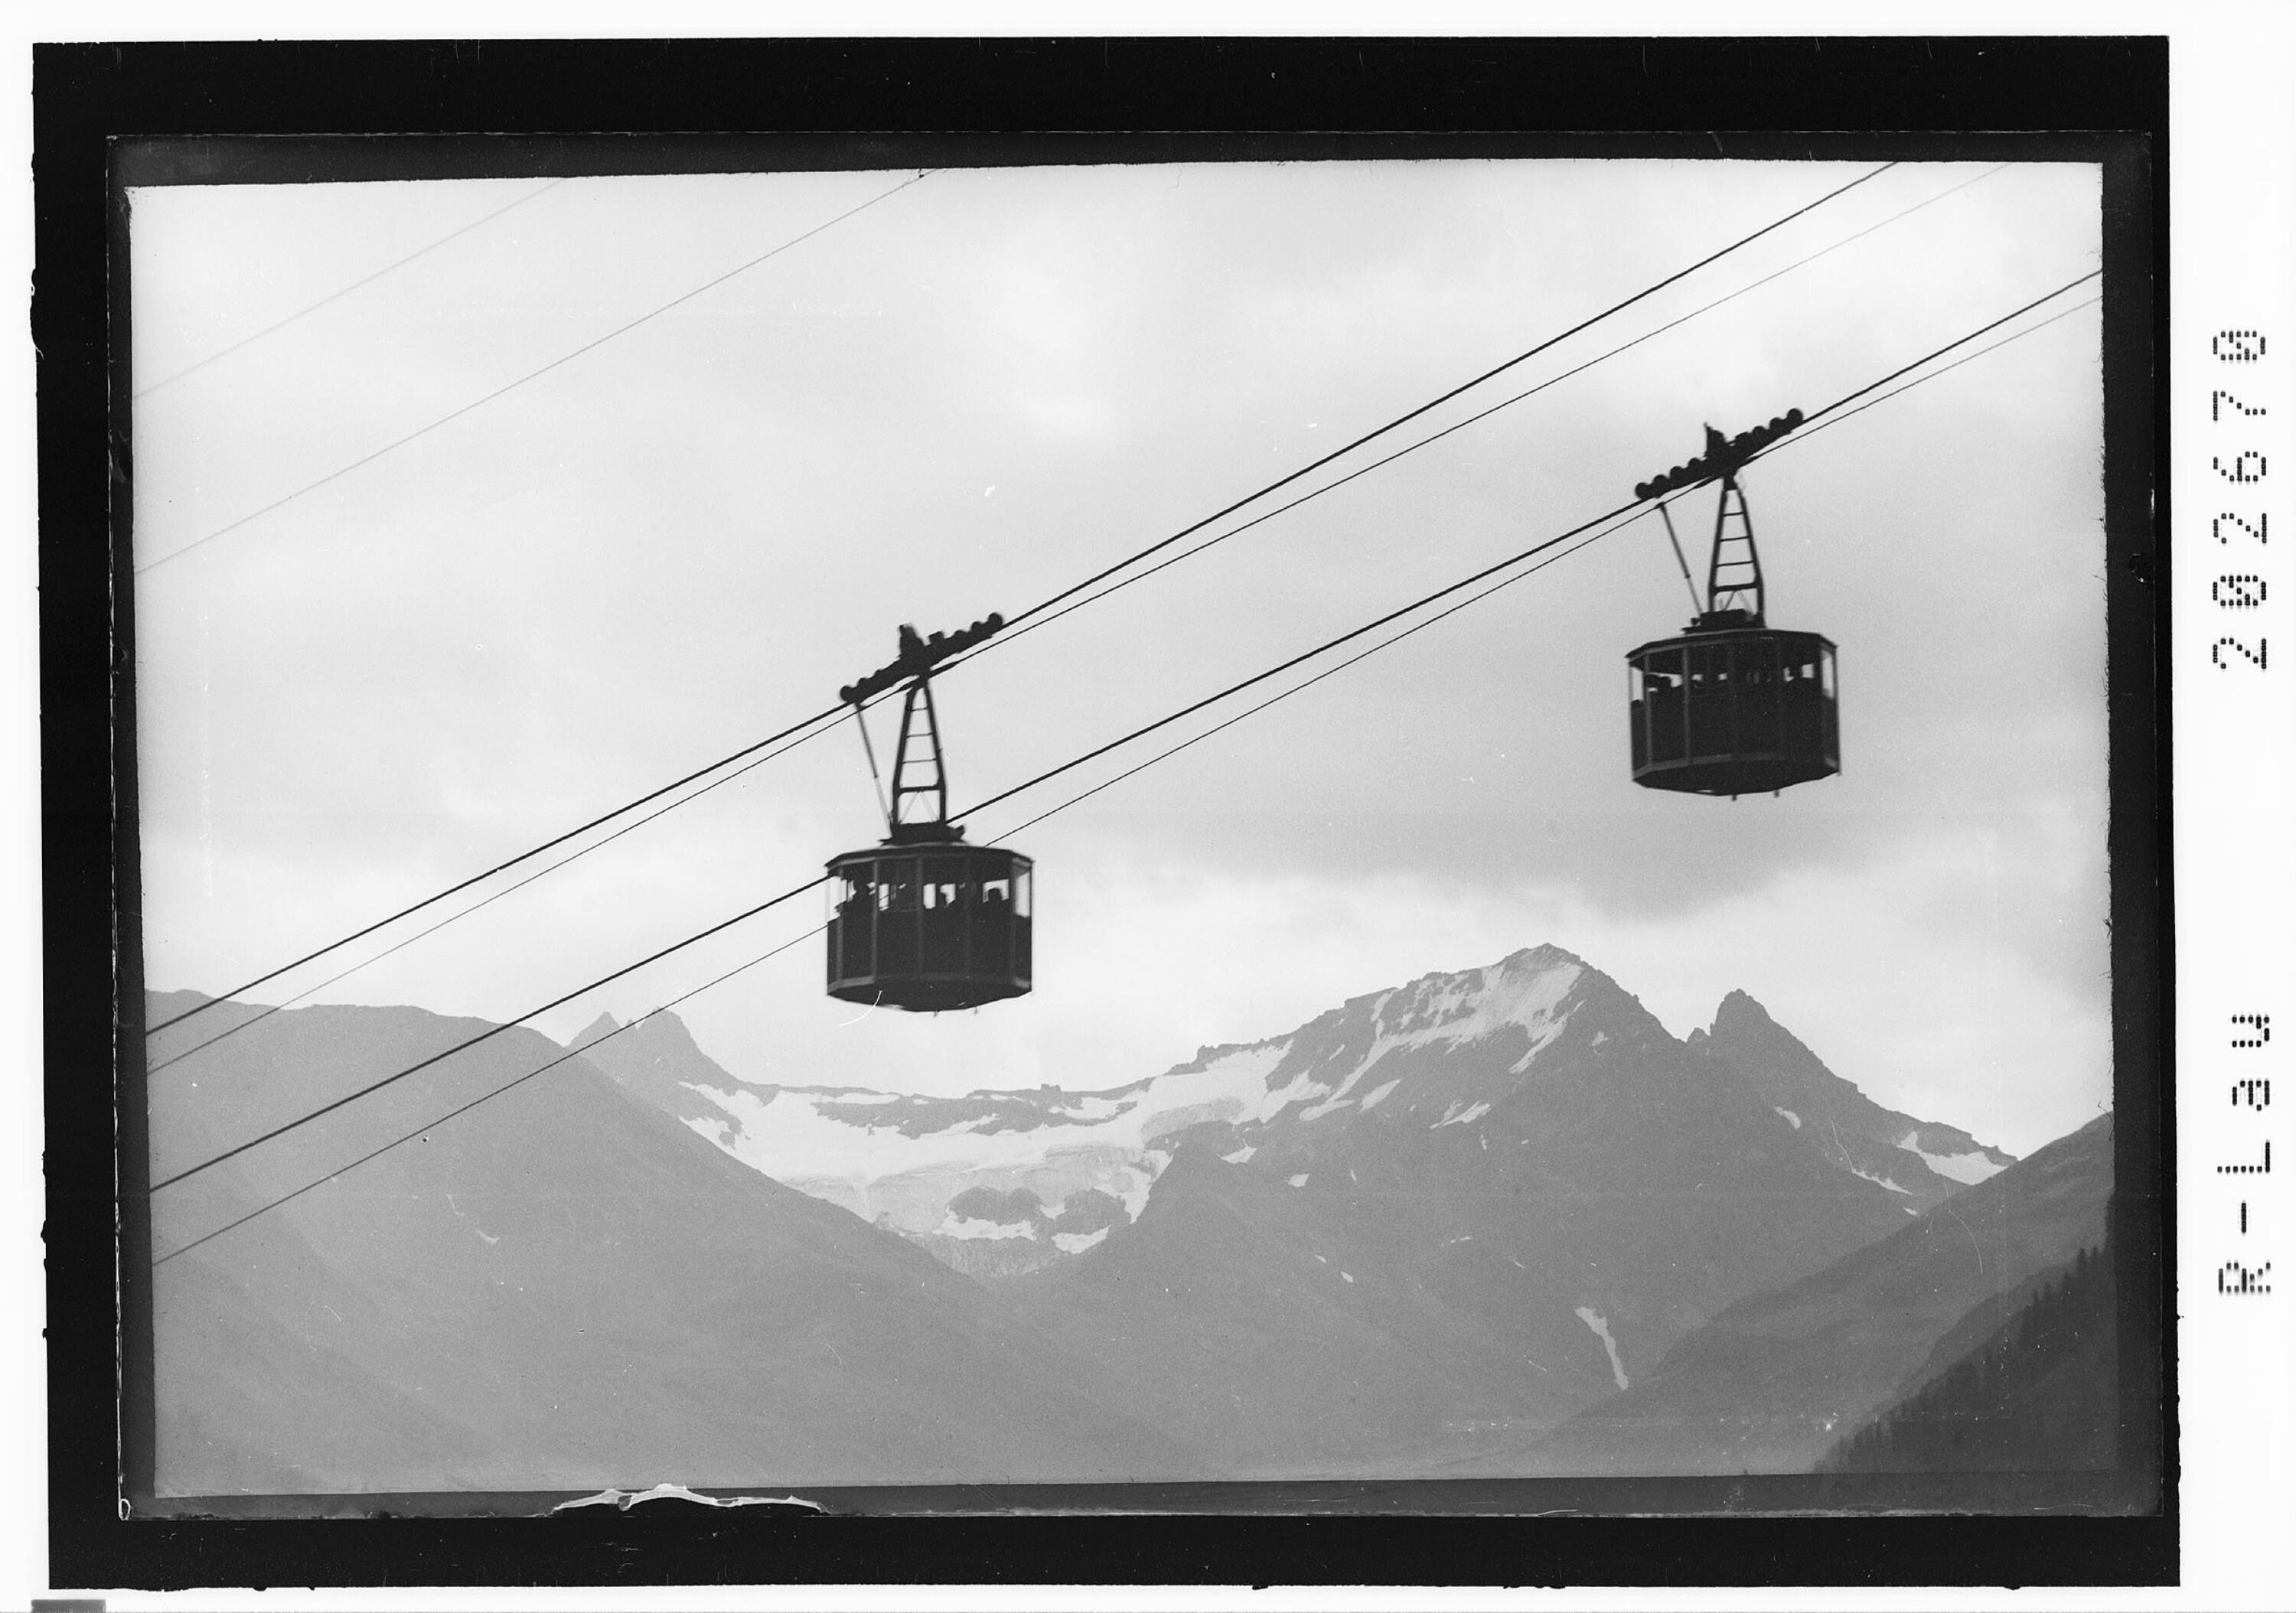
<instances>
[{"instance_id":1,"label":"smooth hazy mountain slope at far left, crossed by cables","mask_svg":"<svg viewBox=\"0 0 2296 1613\"><path fill-rule=\"evenodd\" d=\"M478 1028L276 1014L154 1076L154 1175ZM558 1055L507 1030L163 1189L156 1248ZM165 1494L1187 1471L974 1285L579 1058L168 1260L154 1326Z\"/></svg>"}]
</instances>

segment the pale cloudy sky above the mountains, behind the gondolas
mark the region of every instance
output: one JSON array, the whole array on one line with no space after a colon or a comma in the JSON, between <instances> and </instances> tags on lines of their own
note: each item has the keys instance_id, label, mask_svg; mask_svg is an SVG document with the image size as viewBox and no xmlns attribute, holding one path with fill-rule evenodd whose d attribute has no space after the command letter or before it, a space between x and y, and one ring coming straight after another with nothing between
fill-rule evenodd
<instances>
[{"instance_id":1,"label":"pale cloudy sky above the mountains, behind the gondolas","mask_svg":"<svg viewBox=\"0 0 2296 1613\"><path fill-rule=\"evenodd\" d=\"M1015 615L1869 167L135 190L149 982L227 989L820 711L900 622ZM1743 296L948 672L955 803L2096 268L2096 207L2082 165L1892 167L1290 491ZM1033 996L861 1012L801 941L677 1012L753 1081L1093 1088L1552 941L1678 1035L1743 987L1880 1101L2027 1152L2110 1101L2096 344L2078 310L1747 473L1773 624L1841 647L1841 778L1628 780L1621 656L1688 613L1639 521L1017 835ZM1681 514L1697 564L1711 493ZM877 833L845 723L310 1000L507 1019ZM643 1014L820 918L537 1023Z\"/></svg>"}]
</instances>

